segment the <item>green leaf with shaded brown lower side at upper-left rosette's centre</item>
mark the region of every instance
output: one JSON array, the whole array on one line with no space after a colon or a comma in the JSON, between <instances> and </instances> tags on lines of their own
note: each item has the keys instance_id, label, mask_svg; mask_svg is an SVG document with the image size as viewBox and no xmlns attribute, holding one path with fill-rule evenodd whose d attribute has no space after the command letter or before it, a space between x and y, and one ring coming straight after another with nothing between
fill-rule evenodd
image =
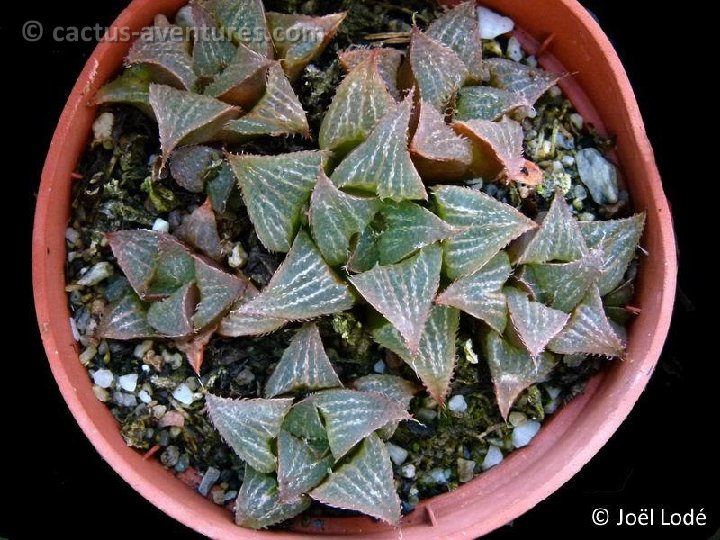
<instances>
[{"instance_id":1,"label":"green leaf with shaded brown lower side at upper-left rosette's centre","mask_svg":"<svg viewBox=\"0 0 720 540\"><path fill-rule=\"evenodd\" d=\"M205 94L244 109L253 107L265 94L272 60L240 45L232 61L205 88Z\"/></svg>"}]
</instances>

